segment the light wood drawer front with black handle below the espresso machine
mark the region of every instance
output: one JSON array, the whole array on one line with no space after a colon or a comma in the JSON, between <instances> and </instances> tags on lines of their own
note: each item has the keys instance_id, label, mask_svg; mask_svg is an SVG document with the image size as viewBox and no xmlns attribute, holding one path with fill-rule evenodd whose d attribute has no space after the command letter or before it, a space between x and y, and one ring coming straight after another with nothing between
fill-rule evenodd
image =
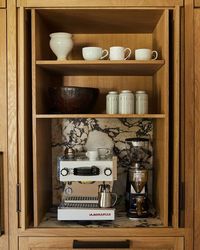
<instances>
[{"instance_id":1,"label":"light wood drawer front with black handle below the espresso machine","mask_svg":"<svg viewBox=\"0 0 200 250\"><path fill-rule=\"evenodd\" d=\"M182 250L184 249L182 237L134 237L134 238L81 238L78 241L79 249L89 249L96 242L96 249L123 249L119 244L124 244L124 249L131 250ZM129 241L129 246L126 242ZM102 242L109 244L108 248L101 247ZM111 243L112 242L112 243ZM20 250L71 250L74 239L65 237L21 237ZM94 245L93 245L93 247Z\"/></svg>"}]
</instances>

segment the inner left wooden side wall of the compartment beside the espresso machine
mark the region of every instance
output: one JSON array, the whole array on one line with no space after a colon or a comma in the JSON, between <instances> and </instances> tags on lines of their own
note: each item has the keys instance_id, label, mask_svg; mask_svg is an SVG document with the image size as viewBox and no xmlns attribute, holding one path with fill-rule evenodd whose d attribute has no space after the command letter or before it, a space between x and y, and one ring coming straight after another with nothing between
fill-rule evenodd
<instances>
[{"instance_id":1,"label":"inner left wooden side wall of the compartment beside the espresso machine","mask_svg":"<svg viewBox=\"0 0 200 250\"><path fill-rule=\"evenodd\" d=\"M38 120L35 128L36 143L33 157L34 175L34 225L43 218L51 206L51 121Z\"/></svg>"}]
</instances>

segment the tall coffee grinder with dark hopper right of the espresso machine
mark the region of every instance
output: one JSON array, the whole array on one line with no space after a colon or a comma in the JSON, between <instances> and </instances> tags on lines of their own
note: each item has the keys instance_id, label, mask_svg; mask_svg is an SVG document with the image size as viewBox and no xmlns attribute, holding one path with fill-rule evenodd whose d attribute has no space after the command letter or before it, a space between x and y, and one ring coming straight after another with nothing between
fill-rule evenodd
<instances>
[{"instance_id":1,"label":"tall coffee grinder with dark hopper right of the espresso machine","mask_svg":"<svg viewBox=\"0 0 200 250\"><path fill-rule=\"evenodd\" d=\"M147 138L125 140L129 159L127 174L127 215L129 218L145 218L148 212L149 142Z\"/></svg>"}]
</instances>

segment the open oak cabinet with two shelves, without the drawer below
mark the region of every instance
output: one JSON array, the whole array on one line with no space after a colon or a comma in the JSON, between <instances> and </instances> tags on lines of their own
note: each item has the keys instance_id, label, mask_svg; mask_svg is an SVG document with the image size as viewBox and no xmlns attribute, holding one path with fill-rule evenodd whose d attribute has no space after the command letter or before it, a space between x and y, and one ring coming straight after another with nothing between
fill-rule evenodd
<instances>
[{"instance_id":1,"label":"open oak cabinet with two shelves, without the drawer below","mask_svg":"<svg viewBox=\"0 0 200 250\"><path fill-rule=\"evenodd\" d=\"M24 228L41 225L52 202L52 129L55 121L66 119L150 119L153 127L154 206L160 224L164 227L178 224L178 150L170 155L169 143L178 145L178 131L169 138L173 124L169 116L173 105L179 106L179 79L173 71L179 70L179 55L173 50L179 34L179 10L165 8L37 8L21 9L19 20L19 165L22 191L21 222ZM134 17L134 18L133 18ZM65 20L65 21L63 21ZM123 22L121 21L123 20ZM107 25L105 25L105 23ZM66 61L56 61L49 47L49 34L55 31L73 34L74 48ZM127 61L84 61L81 48L86 45L109 48L120 44L157 50L156 61L136 61L134 55ZM178 49L178 47L177 47ZM173 59L177 64L173 64ZM177 74L178 75L178 74ZM169 79L171 82L170 86ZM77 84L78 83L78 84ZM100 98L90 114L52 114L48 110L48 87L97 87ZM112 89L143 89L149 94L149 113L144 115L109 115L105 113L105 96ZM178 113L174 115L178 128ZM175 130L174 130L175 131ZM64 141L60 141L64 143ZM54 155L54 158L59 155ZM173 178L169 179L169 172ZM33 175L33 180L31 180ZM29 181L30 180L30 181ZM33 181L33 184L32 184ZM169 186L171 190L169 201ZM33 204L32 201L32 193ZM176 212L174 212L176 211ZM33 214L33 218L31 218ZM173 214L173 220L172 220ZM157 219L157 218L156 218ZM171 224L171 221L172 224ZM48 222L47 222L48 223ZM46 225L47 226L47 225ZM47 227L52 227L51 222ZM60 227L62 225L60 224ZM134 224L133 224L134 227ZM39 229L38 229L39 230Z\"/></svg>"}]
</instances>

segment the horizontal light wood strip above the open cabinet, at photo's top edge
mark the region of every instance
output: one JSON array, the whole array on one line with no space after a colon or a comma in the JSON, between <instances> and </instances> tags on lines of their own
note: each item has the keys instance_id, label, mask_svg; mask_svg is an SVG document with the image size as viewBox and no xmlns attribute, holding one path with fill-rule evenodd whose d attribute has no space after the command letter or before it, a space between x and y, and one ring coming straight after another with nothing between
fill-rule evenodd
<instances>
[{"instance_id":1,"label":"horizontal light wood strip above the open cabinet, at photo's top edge","mask_svg":"<svg viewBox=\"0 0 200 250\"><path fill-rule=\"evenodd\" d=\"M154 6L161 6L161 7L167 7L167 6L175 6L175 5L183 5L183 0L87 0L84 1L84 3L80 4L79 0L51 0L49 2L48 0L43 0L42 2L39 0L17 0L18 6L24 6L24 7L110 7L112 5L117 7L154 7Z\"/></svg>"}]
</instances>

